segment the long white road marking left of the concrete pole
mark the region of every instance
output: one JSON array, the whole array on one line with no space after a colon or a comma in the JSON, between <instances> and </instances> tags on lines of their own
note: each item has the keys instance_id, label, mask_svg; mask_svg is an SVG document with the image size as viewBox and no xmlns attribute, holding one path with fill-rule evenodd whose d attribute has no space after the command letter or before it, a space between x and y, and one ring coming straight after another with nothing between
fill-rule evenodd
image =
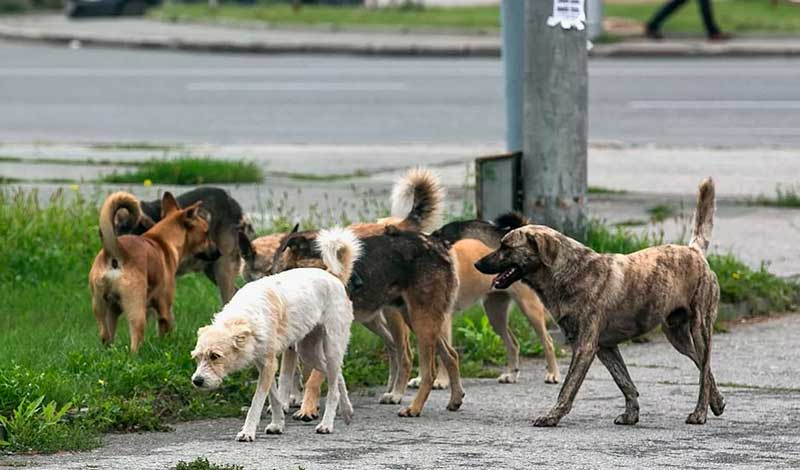
<instances>
[{"instance_id":1,"label":"long white road marking left of the concrete pole","mask_svg":"<svg viewBox=\"0 0 800 470\"><path fill-rule=\"evenodd\" d=\"M405 91L400 82L191 82L187 91Z\"/></svg>"}]
</instances>

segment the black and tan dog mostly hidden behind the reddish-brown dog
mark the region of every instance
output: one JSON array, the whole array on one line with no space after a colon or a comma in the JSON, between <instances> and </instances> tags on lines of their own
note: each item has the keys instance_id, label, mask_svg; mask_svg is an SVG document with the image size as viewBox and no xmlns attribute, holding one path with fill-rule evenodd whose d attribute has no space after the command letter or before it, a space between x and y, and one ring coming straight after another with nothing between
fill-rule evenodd
<instances>
[{"instance_id":1,"label":"black and tan dog mostly hidden behind the reddish-brown dog","mask_svg":"<svg viewBox=\"0 0 800 470\"><path fill-rule=\"evenodd\" d=\"M180 260L178 275L203 272L219 288L222 303L226 304L236 293L236 276L239 275L241 256L238 233L253 235L253 229L244 218L242 207L221 188L203 186L177 197L180 207L203 201L200 214L208 221L208 237L219 250L219 256L189 256ZM141 235L161 220L161 201L139 203L140 216L132 217L121 210L114 219L116 233Z\"/></svg>"}]
</instances>

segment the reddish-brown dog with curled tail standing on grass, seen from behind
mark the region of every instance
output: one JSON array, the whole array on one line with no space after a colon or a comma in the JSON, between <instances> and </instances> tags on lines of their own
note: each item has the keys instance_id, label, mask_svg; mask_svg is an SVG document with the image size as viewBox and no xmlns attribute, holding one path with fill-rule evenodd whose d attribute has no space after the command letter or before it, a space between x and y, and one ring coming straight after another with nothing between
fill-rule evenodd
<instances>
[{"instance_id":1,"label":"reddish-brown dog with curled tail standing on grass, seen from behind","mask_svg":"<svg viewBox=\"0 0 800 470\"><path fill-rule=\"evenodd\" d=\"M114 340L117 319L128 316L131 352L136 352L147 327L147 309L158 315L158 331L163 335L175 324L172 301L175 274L187 256L215 251L208 239L208 223L198 215L198 201L181 209L170 193L161 202L161 221L144 235L114 232L114 216L122 208L139 215L139 201L132 194L110 195L100 209L100 238L103 249L89 271L92 309L104 344Z\"/></svg>"}]
</instances>

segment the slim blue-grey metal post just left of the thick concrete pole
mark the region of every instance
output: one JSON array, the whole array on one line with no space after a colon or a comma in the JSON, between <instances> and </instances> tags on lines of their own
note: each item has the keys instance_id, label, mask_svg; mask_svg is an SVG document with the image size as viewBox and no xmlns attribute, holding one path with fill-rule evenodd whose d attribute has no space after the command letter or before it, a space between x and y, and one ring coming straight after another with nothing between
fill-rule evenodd
<instances>
[{"instance_id":1,"label":"slim blue-grey metal post just left of the thick concrete pole","mask_svg":"<svg viewBox=\"0 0 800 470\"><path fill-rule=\"evenodd\" d=\"M522 150L522 62L525 52L525 2L502 0L503 75L506 98L506 150Z\"/></svg>"}]
</instances>

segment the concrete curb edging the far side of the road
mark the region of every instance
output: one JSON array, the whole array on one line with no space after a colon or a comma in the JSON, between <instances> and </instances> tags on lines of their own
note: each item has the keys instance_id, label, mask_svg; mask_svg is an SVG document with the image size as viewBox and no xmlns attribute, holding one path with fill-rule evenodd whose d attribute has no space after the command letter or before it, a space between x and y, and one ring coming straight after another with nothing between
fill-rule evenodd
<instances>
[{"instance_id":1,"label":"concrete curb edging the far side of the road","mask_svg":"<svg viewBox=\"0 0 800 470\"><path fill-rule=\"evenodd\" d=\"M332 33L335 34L335 33ZM370 42L303 41L290 37L286 40L251 39L198 39L159 35L132 37L109 33L47 31L32 27L0 25L0 39L24 42L68 45L80 41L84 45L123 47L137 49L170 49L197 52L238 52L254 54L343 54L367 56L420 56L420 57L499 57L500 43L431 44L422 40L412 43L386 44ZM624 41L614 44L595 44L589 52L595 57L788 57L800 56L800 39L752 40L741 39L725 43L705 41L644 40Z\"/></svg>"}]
</instances>

